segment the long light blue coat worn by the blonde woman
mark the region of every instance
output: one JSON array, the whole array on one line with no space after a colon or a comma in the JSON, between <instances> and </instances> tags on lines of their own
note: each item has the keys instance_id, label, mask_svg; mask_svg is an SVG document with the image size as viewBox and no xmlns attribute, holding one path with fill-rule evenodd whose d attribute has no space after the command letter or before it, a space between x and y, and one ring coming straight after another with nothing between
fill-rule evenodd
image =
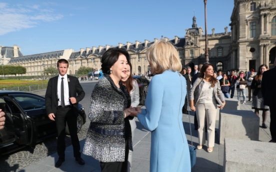
<instances>
[{"instance_id":1,"label":"long light blue coat worn by the blonde woman","mask_svg":"<svg viewBox=\"0 0 276 172\"><path fill-rule=\"evenodd\" d=\"M181 82L180 82L181 78ZM182 88L182 90L181 90ZM150 172L190 172L190 157L182 123L186 80L178 72L152 77L145 107L137 115L151 131Z\"/></svg>"}]
</instances>

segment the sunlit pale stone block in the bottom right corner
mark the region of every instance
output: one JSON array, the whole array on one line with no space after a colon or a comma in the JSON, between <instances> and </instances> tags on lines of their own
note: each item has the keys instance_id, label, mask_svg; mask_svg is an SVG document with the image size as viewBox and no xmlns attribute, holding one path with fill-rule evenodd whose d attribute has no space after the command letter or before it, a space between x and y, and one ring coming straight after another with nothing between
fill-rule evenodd
<instances>
[{"instance_id":1,"label":"sunlit pale stone block in the bottom right corner","mask_svg":"<svg viewBox=\"0 0 276 172\"><path fill-rule=\"evenodd\" d=\"M276 144L225 138L223 172L276 172Z\"/></svg>"}]
</instances>

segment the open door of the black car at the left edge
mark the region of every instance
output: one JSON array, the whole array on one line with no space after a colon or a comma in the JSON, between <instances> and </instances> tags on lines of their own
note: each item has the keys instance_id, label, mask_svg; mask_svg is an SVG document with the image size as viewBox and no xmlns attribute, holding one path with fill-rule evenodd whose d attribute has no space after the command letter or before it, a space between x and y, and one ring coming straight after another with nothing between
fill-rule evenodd
<instances>
[{"instance_id":1,"label":"open door of the black car at the left edge","mask_svg":"<svg viewBox=\"0 0 276 172\"><path fill-rule=\"evenodd\" d=\"M3 100L12 117L16 143L18 145L29 145L31 148L35 148L37 133L34 120L25 115L24 111L12 97L3 96Z\"/></svg>"}]
</instances>

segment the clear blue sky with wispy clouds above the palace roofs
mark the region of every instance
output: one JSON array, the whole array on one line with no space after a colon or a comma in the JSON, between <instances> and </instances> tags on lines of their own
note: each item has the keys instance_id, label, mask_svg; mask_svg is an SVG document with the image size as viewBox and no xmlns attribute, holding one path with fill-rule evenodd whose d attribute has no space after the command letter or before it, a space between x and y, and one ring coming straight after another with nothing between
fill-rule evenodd
<instances>
[{"instance_id":1,"label":"clear blue sky with wispy clouds above the palace roofs","mask_svg":"<svg viewBox=\"0 0 276 172\"><path fill-rule=\"evenodd\" d=\"M208 34L224 32L233 4L207 0ZM203 0L1 0L0 45L18 45L29 55L184 37L193 10L205 31Z\"/></svg>"}]
</instances>

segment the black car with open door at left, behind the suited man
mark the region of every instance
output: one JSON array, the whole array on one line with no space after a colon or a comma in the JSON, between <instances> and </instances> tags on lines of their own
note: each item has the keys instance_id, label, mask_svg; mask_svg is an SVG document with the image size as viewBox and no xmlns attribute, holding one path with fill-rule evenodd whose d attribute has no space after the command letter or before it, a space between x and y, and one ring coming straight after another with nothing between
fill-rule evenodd
<instances>
[{"instance_id":1,"label":"black car with open door at left, behind the suited man","mask_svg":"<svg viewBox=\"0 0 276 172\"><path fill-rule=\"evenodd\" d=\"M5 127L0 130L0 154L21 147L35 148L37 142L56 136L55 122L51 121L41 96L20 92L0 91L0 109L5 112ZM78 104L77 132L85 123L84 108ZM65 129L69 134L68 128Z\"/></svg>"}]
</instances>

